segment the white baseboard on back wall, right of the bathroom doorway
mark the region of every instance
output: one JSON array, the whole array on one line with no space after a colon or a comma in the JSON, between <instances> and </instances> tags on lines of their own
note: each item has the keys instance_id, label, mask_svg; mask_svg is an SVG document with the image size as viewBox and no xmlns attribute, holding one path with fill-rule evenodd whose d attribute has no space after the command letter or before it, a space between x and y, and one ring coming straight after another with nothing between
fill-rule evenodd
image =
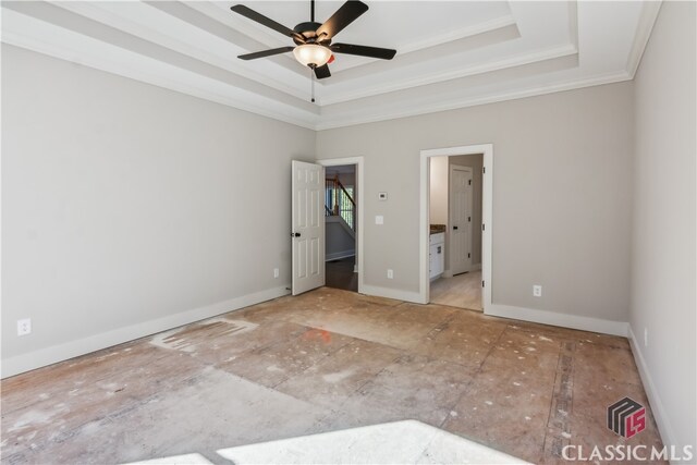
<instances>
[{"instance_id":1,"label":"white baseboard on back wall, right of the bathroom doorway","mask_svg":"<svg viewBox=\"0 0 697 465\"><path fill-rule=\"evenodd\" d=\"M513 318L523 321L579 329L582 331L601 332L603 334L627 336L629 323L611 321L600 318L582 317L578 315L557 314L553 311L536 310L534 308L514 307L511 305L492 304L485 308L486 315Z\"/></svg>"}]
</instances>

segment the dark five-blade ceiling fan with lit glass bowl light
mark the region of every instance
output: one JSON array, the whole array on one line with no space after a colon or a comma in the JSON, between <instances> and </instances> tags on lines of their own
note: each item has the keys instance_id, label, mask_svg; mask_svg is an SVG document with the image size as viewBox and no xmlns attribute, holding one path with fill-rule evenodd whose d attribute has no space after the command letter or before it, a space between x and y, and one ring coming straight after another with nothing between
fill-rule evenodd
<instances>
[{"instance_id":1,"label":"dark five-blade ceiling fan with lit glass bowl light","mask_svg":"<svg viewBox=\"0 0 697 465\"><path fill-rule=\"evenodd\" d=\"M344 27L368 11L368 5L358 0L346 1L325 24L315 22L315 0L310 0L310 21L299 23L293 29L243 4L236 4L230 9L284 36L291 37L295 42L295 46L241 54L237 58L242 60L255 60L257 58L271 57L273 54L292 51L297 61L309 66L318 79L323 79L325 77L331 76L328 63L333 61L333 53L357 54L359 57L379 58L382 60L392 60L396 53L396 50L386 48L331 42L334 36L343 30Z\"/></svg>"}]
</instances>

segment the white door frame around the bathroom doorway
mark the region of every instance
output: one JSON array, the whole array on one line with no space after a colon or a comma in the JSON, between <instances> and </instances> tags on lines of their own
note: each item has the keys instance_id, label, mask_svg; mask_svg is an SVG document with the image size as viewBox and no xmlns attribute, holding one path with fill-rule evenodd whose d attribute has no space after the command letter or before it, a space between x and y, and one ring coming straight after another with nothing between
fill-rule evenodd
<instances>
[{"instance_id":1,"label":"white door frame around the bathroom doorway","mask_svg":"<svg viewBox=\"0 0 697 465\"><path fill-rule=\"evenodd\" d=\"M493 144L465 145L460 147L431 148L420 150L420 194L419 194L419 298L421 304L430 301L430 285L428 279L428 236L429 236L429 205L430 192L429 158L454 157L457 155L484 154L482 162L485 173L481 176L481 223L485 227L481 232L481 279L485 286L481 292L481 304L485 314L490 314L491 290L493 278L491 273L491 248L493 231Z\"/></svg>"}]
</instances>

